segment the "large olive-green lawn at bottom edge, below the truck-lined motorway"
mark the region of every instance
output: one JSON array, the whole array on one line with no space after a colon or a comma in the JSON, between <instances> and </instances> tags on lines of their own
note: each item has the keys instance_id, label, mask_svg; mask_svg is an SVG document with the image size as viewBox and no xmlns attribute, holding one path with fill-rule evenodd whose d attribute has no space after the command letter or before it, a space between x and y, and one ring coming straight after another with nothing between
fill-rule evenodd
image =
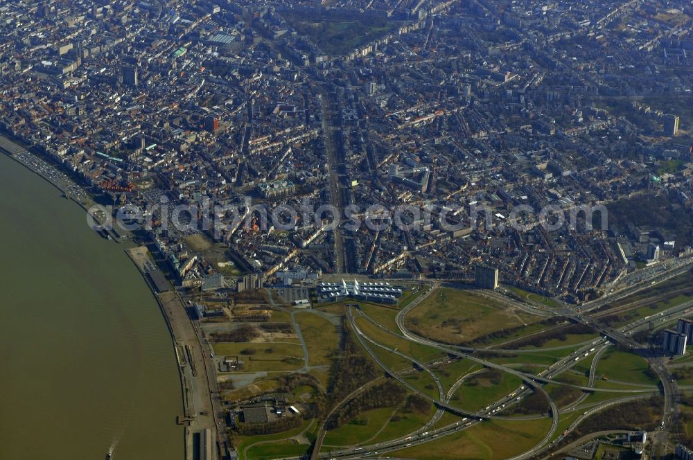
<instances>
[{"instance_id":1,"label":"large olive-green lawn at bottom edge, below the truck-lined motorway","mask_svg":"<svg viewBox=\"0 0 693 460\"><path fill-rule=\"evenodd\" d=\"M509 459L541 441L551 427L550 418L525 421L488 421L467 430L388 453L410 459Z\"/></svg>"}]
</instances>

